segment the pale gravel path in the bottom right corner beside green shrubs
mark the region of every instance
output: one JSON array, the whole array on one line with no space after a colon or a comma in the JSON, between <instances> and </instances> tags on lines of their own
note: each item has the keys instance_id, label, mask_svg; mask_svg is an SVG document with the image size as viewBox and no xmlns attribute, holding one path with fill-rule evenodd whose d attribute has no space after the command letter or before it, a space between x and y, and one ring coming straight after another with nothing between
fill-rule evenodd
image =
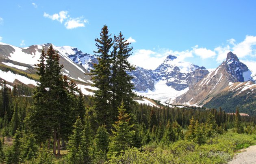
<instances>
[{"instance_id":1,"label":"pale gravel path in the bottom right corner beside green shrubs","mask_svg":"<svg viewBox=\"0 0 256 164\"><path fill-rule=\"evenodd\" d=\"M256 164L256 145L242 149L228 164Z\"/></svg>"}]
</instances>

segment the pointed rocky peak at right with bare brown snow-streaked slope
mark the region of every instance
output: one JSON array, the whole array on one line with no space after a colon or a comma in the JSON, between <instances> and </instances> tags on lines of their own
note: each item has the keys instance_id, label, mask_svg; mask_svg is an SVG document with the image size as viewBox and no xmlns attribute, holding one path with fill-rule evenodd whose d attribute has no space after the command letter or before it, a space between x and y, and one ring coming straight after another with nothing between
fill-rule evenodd
<instances>
[{"instance_id":1,"label":"pointed rocky peak at right with bare brown snow-streaked slope","mask_svg":"<svg viewBox=\"0 0 256 164\"><path fill-rule=\"evenodd\" d=\"M169 103L204 105L221 93L229 84L251 80L251 74L252 72L248 67L230 52L226 61L223 61L219 67L191 86L186 93L177 97L175 101L169 101Z\"/></svg>"}]
</instances>

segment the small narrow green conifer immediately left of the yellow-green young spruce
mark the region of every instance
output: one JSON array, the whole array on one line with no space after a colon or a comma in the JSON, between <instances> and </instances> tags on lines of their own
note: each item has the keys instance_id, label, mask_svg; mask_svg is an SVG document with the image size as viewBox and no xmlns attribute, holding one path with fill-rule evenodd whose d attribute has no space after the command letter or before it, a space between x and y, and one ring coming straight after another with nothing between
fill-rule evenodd
<instances>
[{"instance_id":1,"label":"small narrow green conifer immediately left of the yellow-green young spruce","mask_svg":"<svg viewBox=\"0 0 256 164\"><path fill-rule=\"evenodd\" d=\"M95 135L95 156L97 163L104 163L106 161L106 154L108 152L108 132L105 126L99 126L97 134Z\"/></svg>"}]
</instances>

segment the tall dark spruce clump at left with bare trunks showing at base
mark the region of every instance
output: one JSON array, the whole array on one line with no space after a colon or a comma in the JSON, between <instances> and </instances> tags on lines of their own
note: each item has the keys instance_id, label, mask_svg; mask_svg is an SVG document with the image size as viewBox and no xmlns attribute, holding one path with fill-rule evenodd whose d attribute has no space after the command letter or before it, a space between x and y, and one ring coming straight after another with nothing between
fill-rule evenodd
<instances>
[{"instance_id":1,"label":"tall dark spruce clump at left with bare trunks showing at base","mask_svg":"<svg viewBox=\"0 0 256 164\"><path fill-rule=\"evenodd\" d=\"M72 100L69 89L61 75L63 65L59 64L59 55L53 46L42 51L39 64L37 64L40 84L34 91L33 107L29 115L29 125L33 134L37 135L39 142L53 138L53 153L60 155L61 137L72 132L74 115L72 113ZM73 122L72 122L73 121ZM69 128L68 128L69 127ZM53 134L52 134L53 132ZM56 147L57 143L57 147Z\"/></svg>"}]
</instances>

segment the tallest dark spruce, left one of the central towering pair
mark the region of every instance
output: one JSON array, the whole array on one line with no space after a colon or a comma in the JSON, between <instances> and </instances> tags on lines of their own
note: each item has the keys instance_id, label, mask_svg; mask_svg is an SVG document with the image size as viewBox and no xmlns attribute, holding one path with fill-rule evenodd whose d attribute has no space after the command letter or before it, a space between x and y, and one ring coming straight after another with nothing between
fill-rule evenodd
<instances>
[{"instance_id":1,"label":"tallest dark spruce, left one of the central towering pair","mask_svg":"<svg viewBox=\"0 0 256 164\"><path fill-rule=\"evenodd\" d=\"M93 86L97 87L95 91L95 111L97 119L100 125L106 125L107 128L111 128L113 123L111 115L111 54L110 49L113 45L111 34L108 34L108 27L104 25L100 32L100 38L96 38L97 51L94 53L98 54L98 64L95 64L94 70L91 70L93 75Z\"/></svg>"}]
</instances>

